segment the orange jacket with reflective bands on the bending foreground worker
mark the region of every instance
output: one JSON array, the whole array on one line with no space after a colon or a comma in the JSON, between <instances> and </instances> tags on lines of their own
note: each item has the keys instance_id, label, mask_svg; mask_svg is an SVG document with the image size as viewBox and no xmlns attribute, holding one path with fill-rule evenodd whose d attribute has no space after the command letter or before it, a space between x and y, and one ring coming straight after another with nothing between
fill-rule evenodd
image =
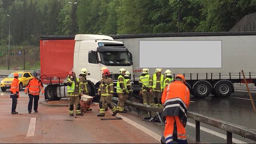
<instances>
[{"instance_id":1,"label":"orange jacket with reflective bands on the bending foreground worker","mask_svg":"<svg viewBox=\"0 0 256 144\"><path fill-rule=\"evenodd\" d=\"M179 116L184 126L186 125L190 93L185 84L180 81L169 84L162 94L162 104L164 104L163 116Z\"/></svg>"}]
</instances>

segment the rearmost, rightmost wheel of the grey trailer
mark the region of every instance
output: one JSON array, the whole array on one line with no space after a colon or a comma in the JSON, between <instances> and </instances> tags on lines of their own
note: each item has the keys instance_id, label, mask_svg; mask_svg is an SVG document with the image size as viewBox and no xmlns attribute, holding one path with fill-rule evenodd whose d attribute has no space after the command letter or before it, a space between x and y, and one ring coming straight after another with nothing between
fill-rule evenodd
<instances>
[{"instance_id":1,"label":"rearmost, rightmost wheel of the grey trailer","mask_svg":"<svg viewBox=\"0 0 256 144\"><path fill-rule=\"evenodd\" d=\"M215 96L227 97L232 93L232 84L228 81L221 81L215 86Z\"/></svg>"}]
</instances>

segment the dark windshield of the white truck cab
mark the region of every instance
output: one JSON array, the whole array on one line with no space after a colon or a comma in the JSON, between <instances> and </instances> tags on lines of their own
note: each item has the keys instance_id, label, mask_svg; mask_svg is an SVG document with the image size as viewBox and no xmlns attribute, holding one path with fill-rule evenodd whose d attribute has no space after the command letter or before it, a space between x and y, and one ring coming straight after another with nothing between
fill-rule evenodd
<instances>
[{"instance_id":1,"label":"dark windshield of the white truck cab","mask_svg":"<svg viewBox=\"0 0 256 144\"><path fill-rule=\"evenodd\" d=\"M127 51L100 52L100 59L106 66L131 66Z\"/></svg>"}]
</instances>

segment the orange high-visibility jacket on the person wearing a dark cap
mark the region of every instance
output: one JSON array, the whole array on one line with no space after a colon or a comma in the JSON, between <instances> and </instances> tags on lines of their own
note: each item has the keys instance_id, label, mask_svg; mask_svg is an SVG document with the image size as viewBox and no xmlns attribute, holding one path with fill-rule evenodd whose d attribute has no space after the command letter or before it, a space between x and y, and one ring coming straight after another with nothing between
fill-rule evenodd
<instances>
[{"instance_id":1,"label":"orange high-visibility jacket on the person wearing a dark cap","mask_svg":"<svg viewBox=\"0 0 256 144\"><path fill-rule=\"evenodd\" d=\"M29 92L29 94L37 96L40 94L40 90L44 92L44 88L42 87L40 81L36 78L33 78L28 82L28 86L26 86L24 92Z\"/></svg>"}]
</instances>

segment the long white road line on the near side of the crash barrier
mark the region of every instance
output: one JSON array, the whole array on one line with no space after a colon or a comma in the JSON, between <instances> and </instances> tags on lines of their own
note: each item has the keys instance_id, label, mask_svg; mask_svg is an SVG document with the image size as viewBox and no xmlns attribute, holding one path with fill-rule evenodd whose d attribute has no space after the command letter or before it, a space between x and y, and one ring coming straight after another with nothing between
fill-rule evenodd
<instances>
[{"instance_id":1,"label":"long white road line on the near side of the crash barrier","mask_svg":"<svg viewBox=\"0 0 256 144\"><path fill-rule=\"evenodd\" d=\"M108 111L108 112L113 114L111 111ZM130 120L129 118L126 118L125 116L122 116L121 114L116 114L116 116L122 118L125 122L128 122L132 126L138 128L142 132L145 132L146 134L150 135L152 138L154 138L154 139L156 139L156 140L158 140L160 142L162 136L160 136L159 134L156 134L152 130L149 130L148 128L145 128L144 126L138 124L137 122L134 122L134 121Z\"/></svg>"}]
</instances>

